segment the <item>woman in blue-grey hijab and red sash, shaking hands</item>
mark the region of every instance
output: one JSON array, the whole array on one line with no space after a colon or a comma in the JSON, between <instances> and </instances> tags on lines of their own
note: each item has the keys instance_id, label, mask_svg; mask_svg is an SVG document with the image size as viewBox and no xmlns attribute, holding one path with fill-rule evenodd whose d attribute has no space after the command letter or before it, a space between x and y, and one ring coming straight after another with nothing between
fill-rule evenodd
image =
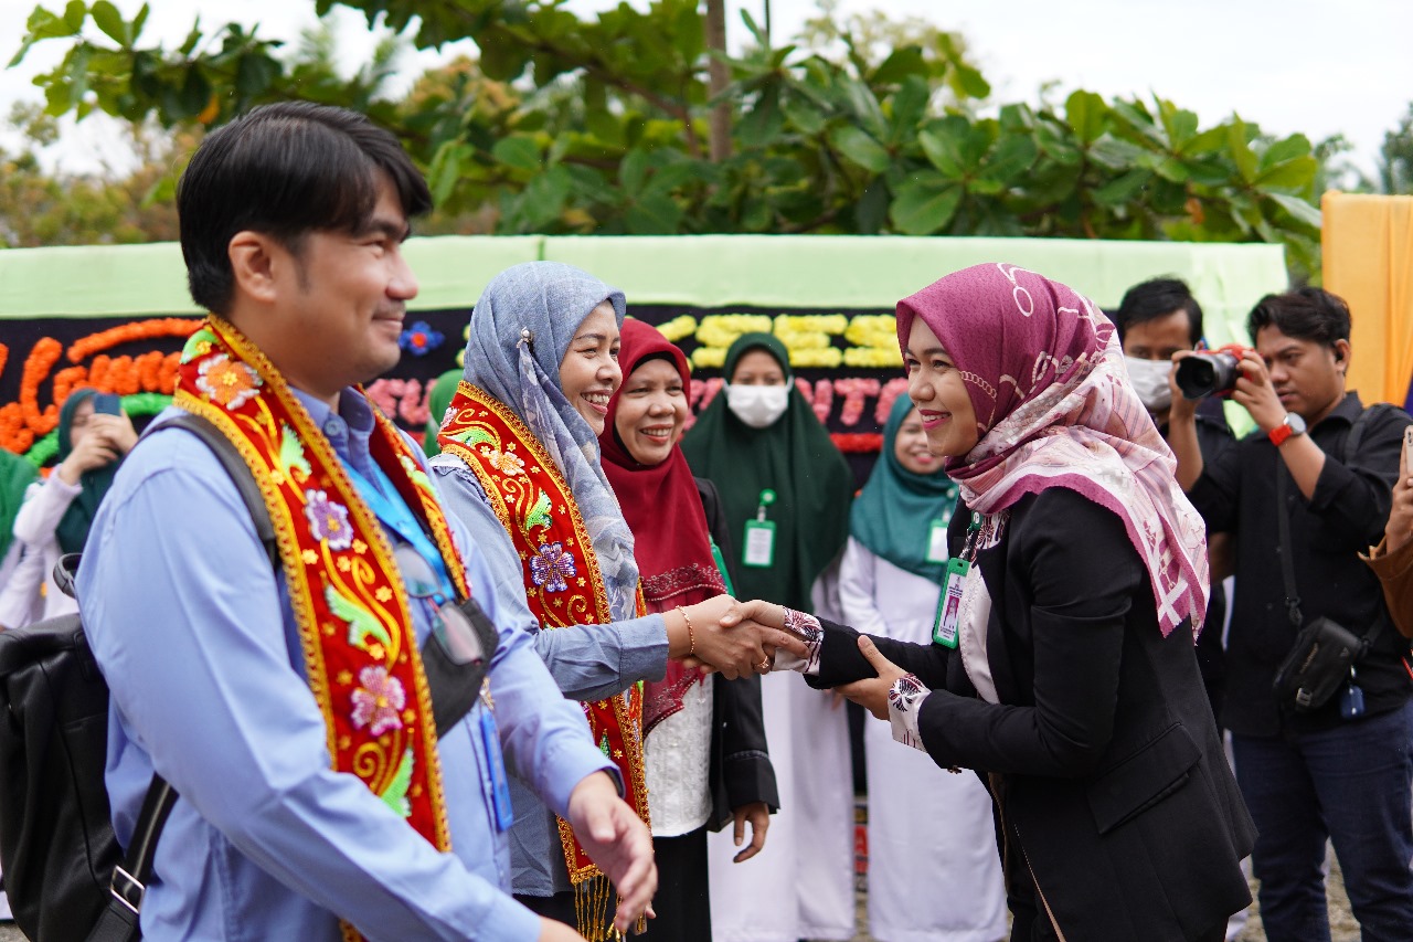
<instances>
[{"instance_id":1,"label":"woman in blue-grey hijab and red sash, shaking hands","mask_svg":"<svg viewBox=\"0 0 1413 942\"><path fill-rule=\"evenodd\" d=\"M660 679L670 652L692 648L685 629L674 641L663 615L636 618L633 535L599 464L598 434L622 382L623 311L622 291L568 264L496 276L472 311L465 373L431 467L442 504L492 569L496 621L534 638L646 822L637 682ZM708 614L694 617L701 627ZM520 761L533 778L533 757ZM533 785L512 777L510 792L516 898L608 938L608 880Z\"/></svg>"}]
</instances>

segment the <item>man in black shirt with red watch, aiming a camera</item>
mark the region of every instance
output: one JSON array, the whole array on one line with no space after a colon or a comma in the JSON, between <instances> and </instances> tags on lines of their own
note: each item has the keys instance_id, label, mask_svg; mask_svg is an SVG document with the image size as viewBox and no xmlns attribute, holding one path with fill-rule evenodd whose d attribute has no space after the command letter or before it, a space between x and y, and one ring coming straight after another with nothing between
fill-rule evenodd
<instances>
[{"instance_id":1,"label":"man in black shirt with red watch, aiming a camera","mask_svg":"<svg viewBox=\"0 0 1413 942\"><path fill-rule=\"evenodd\" d=\"M1358 553L1383 536L1410 419L1389 406L1365 409L1345 390L1349 308L1338 297L1311 287L1266 296L1248 330L1256 348L1235 361L1229 396L1251 413L1256 431L1204 464L1197 403L1176 393L1174 379L1169 443L1178 481L1208 530L1232 533L1236 545L1222 720L1260 832L1252 863L1262 922L1272 942L1330 939L1323 871L1330 839L1362 938L1406 941L1413 926L1413 668ZM1280 475L1286 481L1277 484ZM1328 618L1366 642L1338 693L1304 711L1273 690L1297 635L1280 515L1289 526L1291 595L1304 620Z\"/></svg>"}]
</instances>

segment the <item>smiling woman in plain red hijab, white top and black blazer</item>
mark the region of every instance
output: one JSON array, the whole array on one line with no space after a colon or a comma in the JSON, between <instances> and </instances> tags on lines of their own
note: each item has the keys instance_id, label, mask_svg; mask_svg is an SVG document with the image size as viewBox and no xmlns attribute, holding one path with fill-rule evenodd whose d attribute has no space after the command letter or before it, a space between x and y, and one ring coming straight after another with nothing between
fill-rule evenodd
<instances>
[{"instance_id":1,"label":"smiling woman in plain red hijab, white top and black blazer","mask_svg":"<svg viewBox=\"0 0 1413 942\"><path fill-rule=\"evenodd\" d=\"M627 320L619 365L623 385L599 441L603 471L633 530L647 611L729 591L721 566L735 557L716 489L692 477L677 447L690 412L687 358L653 327ZM770 812L780 805L760 678L726 680L668 662L667 676L647 685L643 731L658 874L649 936L709 942L706 829L735 820L739 846L749 820L752 839L736 854L740 863L764 846Z\"/></svg>"}]
</instances>

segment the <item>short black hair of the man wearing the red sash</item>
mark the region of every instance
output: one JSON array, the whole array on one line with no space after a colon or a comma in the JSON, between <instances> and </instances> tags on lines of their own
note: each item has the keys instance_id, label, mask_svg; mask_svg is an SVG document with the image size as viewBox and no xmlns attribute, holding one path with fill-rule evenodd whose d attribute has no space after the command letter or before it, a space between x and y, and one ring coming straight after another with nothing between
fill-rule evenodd
<instances>
[{"instance_id":1,"label":"short black hair of the man wearing the red sash","mask_svg":"<svg viewBox=\"0 0 1413 942\"><path fill-rule=\"evenodd\" d=\"M235 291L227 246L260 232L297 257L309 232L360 232L387 174L411 219L431 209L427 181L387 130L357 112L280 102L218 129L177 187L187 283L201 307L225 314Z\"/></svg>"}]
</instances>

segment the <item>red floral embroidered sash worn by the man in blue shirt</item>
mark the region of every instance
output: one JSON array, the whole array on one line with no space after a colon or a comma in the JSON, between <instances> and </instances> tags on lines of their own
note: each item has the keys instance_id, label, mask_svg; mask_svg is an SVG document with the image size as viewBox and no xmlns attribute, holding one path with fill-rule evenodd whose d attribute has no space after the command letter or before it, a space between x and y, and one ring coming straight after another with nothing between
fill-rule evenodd
<instances>
[{"instance_id":1,"label":"red floral embroidered sash worn by the man in blue shirt","mask_svg":"<svg viewBox=\"0 0 1413 942\"><path fill-rule=\"evenodd\" d=\"M356 775L428 843L449 850L431 693L377 518L280 372L226 321L208 318L187 342L175 405L213 421L260 484L333 768ZM430 525L456 590L468 595L427 474L393 423L376 407L373 414L373 460ZM349 942L363 938L342 928Z\"/></svg>"}]
</instances>

